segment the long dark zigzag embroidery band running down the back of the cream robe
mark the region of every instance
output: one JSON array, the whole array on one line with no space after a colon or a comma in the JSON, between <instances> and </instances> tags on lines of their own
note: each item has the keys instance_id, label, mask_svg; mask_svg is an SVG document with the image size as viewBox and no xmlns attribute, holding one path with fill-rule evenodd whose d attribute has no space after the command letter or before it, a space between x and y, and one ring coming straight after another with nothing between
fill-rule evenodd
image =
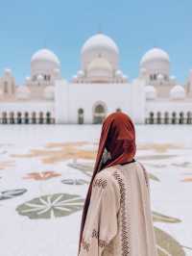
<instances>
[{"instance_id":1,"label":"long dark zigzag embroidery band running down the back of the cream robe","mask_svg":"<svg viewBox=\"0 0 192 256\"><path fill-rule=\"evenodd\" d=\"M121 213L121 225L122 225L122 233L121 233L121 242L122 242L122 256L128 256L131 252L131 242L130 242L130 234L131 234L131 221L130 218L126 215L126 201L129 202L129 199L126 198L126 189L123 179L119 172L116 170L113 172L113 176L115 180L118 182L120 189L120 213ZM130 187L128 187L130 191Z\"/></svg>"}]
</instances>

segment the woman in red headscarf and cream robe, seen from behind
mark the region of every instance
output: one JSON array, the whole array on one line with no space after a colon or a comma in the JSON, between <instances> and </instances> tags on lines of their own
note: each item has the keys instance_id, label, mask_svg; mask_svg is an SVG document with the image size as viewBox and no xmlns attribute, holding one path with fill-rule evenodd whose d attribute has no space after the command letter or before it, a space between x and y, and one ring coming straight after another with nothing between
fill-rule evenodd
<instances>
[{"instance_id":1,"label":"woman in red headscarf and cream robe, seen from behind","mask_svg":"<svg viewBox=\"0 0 192 256\"><path fill-rule=\"evenodd\" d=\"M157 256L149 177L135 152L131 118L108 115L84 202L79 256Z\"/></svg>"}]
</instances>

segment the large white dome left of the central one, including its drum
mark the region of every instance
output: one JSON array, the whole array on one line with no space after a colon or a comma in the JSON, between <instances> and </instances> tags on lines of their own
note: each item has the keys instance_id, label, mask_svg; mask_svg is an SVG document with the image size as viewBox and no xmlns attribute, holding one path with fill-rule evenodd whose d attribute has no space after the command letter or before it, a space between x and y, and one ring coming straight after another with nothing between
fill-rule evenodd
<instances>
[{"instance_id":1,"label":"large white dome left of the central one, including its drum","mask_svg":"<svg viewBox=\"0 0 192 256\"><path fill-rule=\"evenodd\" d=\"M60 70L59 58L48 49L38 50L31 59L32 77L40 75L55 75L55 69Z\"/></svg>"}]
</instances>

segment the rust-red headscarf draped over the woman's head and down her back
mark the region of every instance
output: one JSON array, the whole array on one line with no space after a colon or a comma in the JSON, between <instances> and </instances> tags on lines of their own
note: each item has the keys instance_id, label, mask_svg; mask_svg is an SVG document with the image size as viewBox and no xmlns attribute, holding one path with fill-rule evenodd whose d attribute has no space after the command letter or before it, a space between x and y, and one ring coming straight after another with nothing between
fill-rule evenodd
<instances>
[{"instance_id":1,"label":"rust-red headscarf draped over the woman's head and down her back","mask_svg":"<svg viewBox=\"0 0 192 256\"><path fill-rule=\"evenodd\" d=\"M122 112L108 115L103 122L96 162L84 202L79 251L95 175L106 167L132 161L135 152L135 130L131 117Z\"/></svg>"}]
</instances>

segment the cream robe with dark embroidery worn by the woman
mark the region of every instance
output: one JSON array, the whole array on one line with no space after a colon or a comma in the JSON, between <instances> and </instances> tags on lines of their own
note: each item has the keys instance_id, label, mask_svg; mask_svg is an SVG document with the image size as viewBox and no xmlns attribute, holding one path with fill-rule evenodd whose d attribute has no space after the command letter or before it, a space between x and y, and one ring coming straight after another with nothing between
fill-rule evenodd
<instances>
[{"instance_id":1,"label":"cream robe with dark embroidery worn by the woman","mask_svg":"<svg viewBox=\"0 0 192 256\"><path fill-rule=\"evenodd\" d=\"M80 255L157 256L149 178L137 161L96 174Z\"/></svg>"}]
</instances>

